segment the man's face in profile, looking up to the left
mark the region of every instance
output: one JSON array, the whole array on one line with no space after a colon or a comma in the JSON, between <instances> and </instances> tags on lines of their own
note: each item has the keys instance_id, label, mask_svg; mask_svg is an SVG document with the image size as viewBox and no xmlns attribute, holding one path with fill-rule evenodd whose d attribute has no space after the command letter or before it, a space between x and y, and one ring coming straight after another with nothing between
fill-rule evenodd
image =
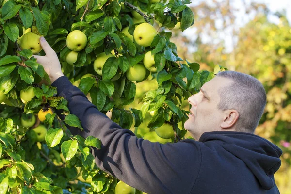
<instances>
[{"instance_id":1,"label":"man's face in profile, looking up to the left","mask_svg":"<svg viewBox=\"0 0 291 194\"><path fill-rule=\"evenodd\" d=\"M187 129L195 140L199 140L204 132L220 131L221 123L225 119L223 111L218 110L217 104L220 101L218 90L226 87L231 80L214 77L205 83L199 93L188 98L191 104L189 119L185 122L184 127Z\"/></svg>"}]
</instances>

